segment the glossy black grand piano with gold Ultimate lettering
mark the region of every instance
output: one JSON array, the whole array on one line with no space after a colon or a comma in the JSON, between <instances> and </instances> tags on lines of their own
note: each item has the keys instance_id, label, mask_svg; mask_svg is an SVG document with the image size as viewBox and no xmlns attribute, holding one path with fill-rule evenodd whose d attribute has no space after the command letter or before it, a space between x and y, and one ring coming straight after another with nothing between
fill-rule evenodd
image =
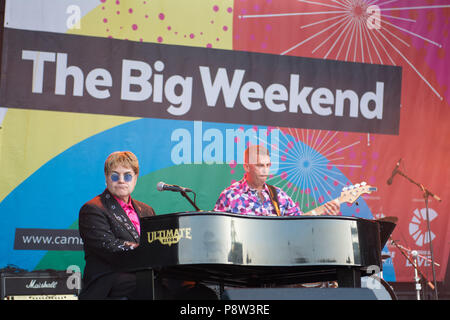
<instances>
[{"instance_id":1,"label":"glossy black grand piano with gold Ultimate lettering","mask_svg":"<svg viewBox=\"0 0 450 320\"><path fill-rule=\"evenodd\" d=\"M337 281L361 286L382 269L395 222L346 216L267 217L184 212L141 221L128 269L220 286Z\"/></svg>"}]
</instances>

